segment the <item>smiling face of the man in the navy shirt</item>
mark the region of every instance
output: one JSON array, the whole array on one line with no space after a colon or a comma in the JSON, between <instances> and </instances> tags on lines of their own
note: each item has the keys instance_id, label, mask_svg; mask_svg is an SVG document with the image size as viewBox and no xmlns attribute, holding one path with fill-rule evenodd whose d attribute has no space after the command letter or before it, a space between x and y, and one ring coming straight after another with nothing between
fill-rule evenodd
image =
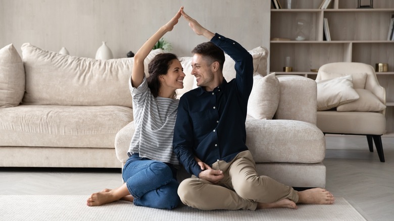
<instances>
[{"instance_id":1,"label":"smiling face of the man in the navy shirt","mask_svg":"<svg viewBox=\"0 0 394 221\"><path fill-rule=\"evenodd\" d=\"M208 60L205 59L201 54L195 53L193 55L193 60L191 62L191 74L194 75L197 86L199 87L207 87L207 88L215 88L215 75L213 72L213 63L209 64Z\"/></svg>"}]
</instances>

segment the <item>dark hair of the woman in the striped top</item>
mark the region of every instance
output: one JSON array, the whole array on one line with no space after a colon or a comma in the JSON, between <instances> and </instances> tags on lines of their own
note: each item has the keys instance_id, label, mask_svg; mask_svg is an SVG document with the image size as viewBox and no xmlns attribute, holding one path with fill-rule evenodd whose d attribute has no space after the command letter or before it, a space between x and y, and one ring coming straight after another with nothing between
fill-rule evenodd
<instances>
[{"instance_id":1,"label":"dark hair of the woman in the striped top","mask_svg":"<svg viewBox=\"0 0 394 221\"><path fill-rule=\"evenodd\" d=\"M149 77L146 78L147 85L154 97L159 96L160 90L160 75L166 75L173 60L178 60L178 57L173 53L160 53L148 65ZM174 98L176 93L174 93Z\"/></svg>"}]
</instances>

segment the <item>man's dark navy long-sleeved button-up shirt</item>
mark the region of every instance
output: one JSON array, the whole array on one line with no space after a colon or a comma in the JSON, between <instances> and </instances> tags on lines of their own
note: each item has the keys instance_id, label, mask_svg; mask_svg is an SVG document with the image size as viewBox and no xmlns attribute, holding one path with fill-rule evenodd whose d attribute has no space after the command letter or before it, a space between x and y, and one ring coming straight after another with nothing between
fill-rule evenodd
<instances>
[{"instance_id":1,"label":"man's dark navy long-sleeved button-up shirt","mask_svg":"<svg viewBox=\"0 0 394 221\"><path fill-rule=\"evenodd\" d=\"M245 145L245 120L253 86L253 59L237 42L215 34L211 39L235 61L236 77L223 78L213 91L193 89L179 100L174 131L174 152L186 171L199 177L202 172L194 155L211 165L231 161Z\"/></svg>"}]
</instances>

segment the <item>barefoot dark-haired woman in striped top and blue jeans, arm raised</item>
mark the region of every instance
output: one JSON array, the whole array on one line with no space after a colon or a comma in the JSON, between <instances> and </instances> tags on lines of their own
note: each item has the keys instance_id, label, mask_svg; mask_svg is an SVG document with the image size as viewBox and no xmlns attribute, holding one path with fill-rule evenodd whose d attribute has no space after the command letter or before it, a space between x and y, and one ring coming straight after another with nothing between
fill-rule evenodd
<instances>
[{"instance_id":1,"label":"barefoot dark-haired woman in striped top and blue jeans, arm raised","mask_svg":"<svg viewBox=\"0 0 394 221\"><path fill-rule=\"evenodd\" d=\"M178 23L182 8L135 53L129 82L133 95L135 133L129 159L123 168L125 183L117 189L93 193L88 206L120 199L138 206L173 209L179 203L178 182L172 151L172 138L179 100L176 89L183 88L183 68L172 53L158 54L149 64L145 77L143 61L157 41Z\"/></svg>"}]
</instances>

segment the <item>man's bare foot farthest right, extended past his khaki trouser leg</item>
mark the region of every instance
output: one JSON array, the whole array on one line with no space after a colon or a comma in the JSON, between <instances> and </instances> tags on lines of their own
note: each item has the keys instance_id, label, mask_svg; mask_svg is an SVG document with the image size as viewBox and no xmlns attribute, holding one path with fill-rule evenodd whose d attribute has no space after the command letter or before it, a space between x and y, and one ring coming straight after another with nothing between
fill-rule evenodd
<instances>
[{"instance_id":1,"label":"man's bare foot farthest right, extended past his khaki trouser leg","mask_svg":"<svg viewBox=\"0 0 394 221\"><path fill-rule=\"evenodd\" d=\"M335 201L334 196L322 188L313 188L298 192L298 203L304 204L332 204Z\"/></svg>"}]
</instances>

